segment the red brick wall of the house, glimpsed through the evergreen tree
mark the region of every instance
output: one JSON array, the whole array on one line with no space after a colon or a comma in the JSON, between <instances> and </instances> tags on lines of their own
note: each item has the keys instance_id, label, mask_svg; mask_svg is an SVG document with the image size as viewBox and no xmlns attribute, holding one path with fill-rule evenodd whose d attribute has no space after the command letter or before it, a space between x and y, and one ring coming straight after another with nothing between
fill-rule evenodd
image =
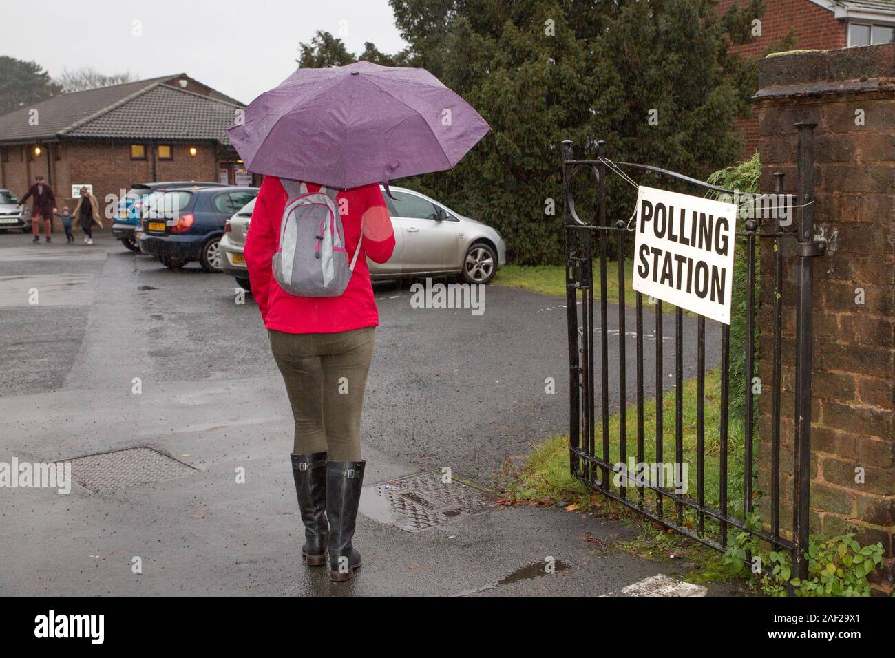
<instances>
[{"instance_id":1,"label":"red brick wall of the house, glimpsed through the evergreen tree","mask_svg":"<svg viewBox=\"0 0 895 658\"><path fill-rule=\"evenodd\" d=\"M735 4L746 6L747 0L720 0L718 11L727 12ZM848 43L846 23L811 0L771 0L765 2L761 16L762 36L751 43L733 46L731 52L744 57L760 57L773 44L792 31L793 49L810 50L845 47ZM758 108L752 115L739 119L737 130L743 133L743 158L748 159L758 150Z\"/></svg>"}]
</instances>

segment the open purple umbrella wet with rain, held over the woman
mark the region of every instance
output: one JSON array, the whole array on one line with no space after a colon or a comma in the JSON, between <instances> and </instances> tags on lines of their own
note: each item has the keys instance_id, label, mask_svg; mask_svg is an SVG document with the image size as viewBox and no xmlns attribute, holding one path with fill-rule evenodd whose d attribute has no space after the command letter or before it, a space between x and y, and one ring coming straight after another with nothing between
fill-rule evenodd
<instances>
[{"instance_id":1,"label":"open purple umbrella wet with rain, held over the woman","mask_svg":"<svg viewBox=\"0 0 895 658\"><path fill-rule=\"evenodd\" d=\"M249 171L342 189L450 169L490 130L425 69L299 69L227 131Z\"/></svg>"}]
</instances>

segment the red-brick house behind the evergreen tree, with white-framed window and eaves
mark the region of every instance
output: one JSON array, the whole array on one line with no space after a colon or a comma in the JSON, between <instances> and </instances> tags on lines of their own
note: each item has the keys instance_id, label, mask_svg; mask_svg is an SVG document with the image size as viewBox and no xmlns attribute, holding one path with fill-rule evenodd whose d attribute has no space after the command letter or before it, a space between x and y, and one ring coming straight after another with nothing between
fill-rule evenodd
<instances>
[{"instance_id":1,"label":"red-brick house behind the evergreen tree, with white-framed window and eaves","mask_svg":"<svg viewBox=\"0 0 895 658\"><path fill-rule=\"evenodd\" d=\"M720 0L727 12L747 0ZM793 50L829 50L849 46L875 46L895 40L895 0L765 0L762 35L731 50L744 57L761 57L769 47L794 38ZM737 121L743 132L743 158L758 150L758 109Z\"/></svg>"}]
</instances>

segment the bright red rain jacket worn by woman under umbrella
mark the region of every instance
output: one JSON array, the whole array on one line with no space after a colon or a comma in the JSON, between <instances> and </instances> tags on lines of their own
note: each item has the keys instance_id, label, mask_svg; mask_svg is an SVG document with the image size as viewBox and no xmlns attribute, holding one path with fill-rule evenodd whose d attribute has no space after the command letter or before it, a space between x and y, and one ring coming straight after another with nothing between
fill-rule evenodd
<instances>
[{"instance_id":1,"label":"bright red rain jacket worn by woman under umbrella","mask_svg":"<svg viewBox=\"0 0 895 658\"><path fill-rule=\"evenodd\" d=\"M308 184L308 192L319 189L320 185ZM343 200L347 201L346 208ZM264 326L289 334L334 333L377 326L379 311L365 257L385 262L395 249L395 233L379 185L363 185L338 192L337 206L347 210L342 214L347 254L354 254L362 226L364 233L354 274L345 292L337 297L296 297L283 290L274 279L270 261L277 252L286 201L288 195L279 179L265 176L245 240L251 295L258 303Z\"/></svg>"}]
</instances>

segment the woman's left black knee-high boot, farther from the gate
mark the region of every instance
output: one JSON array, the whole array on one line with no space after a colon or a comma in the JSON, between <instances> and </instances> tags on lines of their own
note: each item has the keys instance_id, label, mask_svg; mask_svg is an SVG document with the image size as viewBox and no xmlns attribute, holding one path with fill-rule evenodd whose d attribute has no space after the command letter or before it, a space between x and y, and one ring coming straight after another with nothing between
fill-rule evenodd
<instances>
[{"instance_id":1,"label":"woman's left black knee-high boot, farther from the gate","mask_svg":"<svg viewBox=\"0 0 895 658\"><path fill-rule=\"evenodd\" d=\"M291 457L295 493L307 539L302 547L302 557L311 567L319 567L327 561L327 453L293 454Z\"/></svg>"}]
</instances>

